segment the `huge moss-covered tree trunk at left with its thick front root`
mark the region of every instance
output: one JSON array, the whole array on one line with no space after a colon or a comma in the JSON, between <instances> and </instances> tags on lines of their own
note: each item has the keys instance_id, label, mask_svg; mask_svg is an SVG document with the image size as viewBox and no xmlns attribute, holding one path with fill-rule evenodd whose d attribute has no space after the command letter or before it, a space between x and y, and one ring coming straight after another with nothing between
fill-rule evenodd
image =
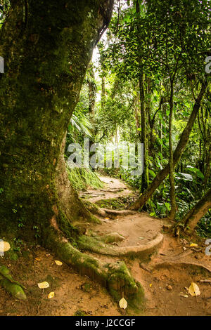
<instances>
[{"instance_id":1,"label":"huge moss-covered tree trunk at left with its thick front root","mask_svg":"<svg viewBox=\"0 0 211 330\"><path fill-rule=\"evenodd\" d=\"M78 235L75 222L93 216L70 186L63 157L70 117L113 0L12 4L0 44L0 237L39 235L41 244L116 298L123 291L134 296L141 287L124 263L101 265L70 244Z\"/></svg>"}]
</instances>

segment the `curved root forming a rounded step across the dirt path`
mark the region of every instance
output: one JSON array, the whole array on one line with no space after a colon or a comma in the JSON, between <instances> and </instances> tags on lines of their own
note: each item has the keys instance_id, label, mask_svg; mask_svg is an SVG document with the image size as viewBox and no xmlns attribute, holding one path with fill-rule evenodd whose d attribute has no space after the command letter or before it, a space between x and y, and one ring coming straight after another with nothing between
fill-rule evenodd
<instances>
[{"instance_id":1,"label":"curved root forming a rounded step across the dirt path","mask_svg":"<svg viewBox=\"0 0 211 330\"><path fill-rule=\"evenodd\" d=\"M139 246L109 246L100 241L99 237L80 236L78 245L80 249L100 253L107 256L134 256L139 258L146 258L152 253L155 253L162 244L163 235L158 234L155 239Z\"/></svg>"}]
</instances>

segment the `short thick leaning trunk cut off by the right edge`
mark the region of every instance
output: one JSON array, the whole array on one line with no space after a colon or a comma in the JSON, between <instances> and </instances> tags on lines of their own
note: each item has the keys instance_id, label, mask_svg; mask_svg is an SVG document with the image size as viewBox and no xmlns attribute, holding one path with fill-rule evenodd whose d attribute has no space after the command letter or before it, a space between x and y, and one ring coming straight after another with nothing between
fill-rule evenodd
<instances>
[{"instance_id":1,"label":"short thick leaning trunk cut off by the right edge","mask_svg":"<svg viewBox=\"0 0 211 330\"><path fill-rule=\"evenodd\" d=\"M182 223L184 223L185 229L188 227L189 230L195 229L196 225L198 224L198 221L203 218L205 213L211 208L211 189L207 191L205 196L200 199L200 201L193 206L193 209L191 209L188 213L186 213L186 216L181 220Z\"/></svg>"}]
</instances>

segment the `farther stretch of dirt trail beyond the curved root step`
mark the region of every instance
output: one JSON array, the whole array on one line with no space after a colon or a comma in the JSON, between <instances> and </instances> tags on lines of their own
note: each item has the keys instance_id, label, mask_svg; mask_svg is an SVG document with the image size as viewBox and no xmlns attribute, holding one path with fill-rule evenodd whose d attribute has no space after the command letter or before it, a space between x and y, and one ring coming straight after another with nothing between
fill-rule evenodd
<instances>
[{"instance_id":1,"label":"farther stretch of dirt trail beyond the curved root step","mask_svg":"<svg viewBox=\"0 0 211 330\"><path fill-rule=\"evenodd\" d=\"M120 179L110 178L108 176L99 176L99 178L105 183L105 186L99 190L88 188L86 193L81 192L79 194L80 197L88 199L89 202L96 203L101 207L107 208L108 206L109 209L121 210L122 206L125 208L124 203L127 203L128 200L132 202L137 196L137 192L128 187ZM115 246L140 246L147 244L161 232L162 222L159 219L151 218L146 212L139 213L133 211L132 213L123 216L109 214L107 218L101 218L101 224L90 224L89 232L93 231L96 235L100 236L117 232L124 239L120 242L115 242Z\"/></svg>"}]
</instances>

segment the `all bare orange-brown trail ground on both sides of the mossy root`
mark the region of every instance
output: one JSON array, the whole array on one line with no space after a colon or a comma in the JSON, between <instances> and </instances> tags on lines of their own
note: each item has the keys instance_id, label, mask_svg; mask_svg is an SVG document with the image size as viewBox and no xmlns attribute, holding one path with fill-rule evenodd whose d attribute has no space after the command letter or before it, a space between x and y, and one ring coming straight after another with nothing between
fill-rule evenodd
<instances>
[{"instance_id":1,"label":"all bare orange-brown trail ground on both sides of the mossy root","mask_svg":"<svg viewBox=\"0 0 211 330\"><path fill-rule=\"evenodd\" d=\"M89 201L99 205L104 203L106 208L110 199L110 205L115 209L122 209L125 201L127 207L127 199L136 196L136 192L119 179L101 176L101 180L105 187L99 190L90 188L79 195L89 197ZM115 204L118 199L123 202ZM210 257L205 255L203 242L194 242L198 246L192 247L188 239L176 239L166 232L166 221L152 218L146 212L110 215L101 220L101 225L88 226L87 235L89 232L98 235L118 232L124 239L108 244L113 249L124 249L125 246L139 248L163 235L157 253L146 254L146 258L143 255L128 258L87 252L102 261L124 260L145 290L146 308L141 315L211 315L211 284L200 282L211 279ZM17 260L2 258L2 263L26 287L27 301L16 301L0 288L0 315L116 316L124 312L106 289L64 263L56 265L57 258L41 246L23 246L17 255ZM49 282L48 289L38 288L37 284L43 281ZM191 282L198 284L200 296L193 297L188 293ZM51 291L55 295L49 299Z\"/></svg>"}]
</instances>

